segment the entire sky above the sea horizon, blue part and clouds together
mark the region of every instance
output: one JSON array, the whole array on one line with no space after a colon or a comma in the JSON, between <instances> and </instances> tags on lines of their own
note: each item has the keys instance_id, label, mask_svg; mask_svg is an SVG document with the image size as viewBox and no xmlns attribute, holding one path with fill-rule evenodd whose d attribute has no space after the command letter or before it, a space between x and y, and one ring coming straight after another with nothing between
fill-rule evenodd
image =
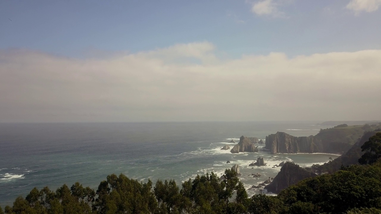
<instances>
[{"instance_id":1,"label":"entire sky above the sea horizon, blue part and clouds together","mask_svg":"<svg viewBox=\"0 0 381 214\"><path fill-rule=\"evenodd\" d=\"M0 1L0 122L381 120L381 0Z\"/></svg>"}]
</instances>

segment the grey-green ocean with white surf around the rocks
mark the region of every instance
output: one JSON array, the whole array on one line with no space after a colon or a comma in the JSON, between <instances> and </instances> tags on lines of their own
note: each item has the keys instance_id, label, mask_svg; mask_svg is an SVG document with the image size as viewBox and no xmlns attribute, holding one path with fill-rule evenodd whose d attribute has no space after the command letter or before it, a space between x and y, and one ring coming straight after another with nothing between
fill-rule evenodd
<instances>
[{"instance_id":1,"label":"grey-green ocean with white surf around the rocks","mask_svg":"<svg viewBox=\"0 0 381 214\"><path fill-rule=\"evenodd\" d=\"M96 190L112 173L154 184L157 179L181 182L197 174L239 164L240 180L248 189L275 177L282 161L300 166L325 163L331 154L232 154L220 150L240 136L265 139L283 131L293 136L315 135L320 128L309 122L166 122L166 123L0 123L0 206L26 196L32 188L51 190L75 182ZM233 146L234 144L230 144ZM258 144L259 149L264 145ZM258 157L267 166L248 167ZM231 163L226 163L231 161ZM260 173L258 179L248 176ZM249 195L259 189L248 190Z\"/></svg>"}]
</instances>

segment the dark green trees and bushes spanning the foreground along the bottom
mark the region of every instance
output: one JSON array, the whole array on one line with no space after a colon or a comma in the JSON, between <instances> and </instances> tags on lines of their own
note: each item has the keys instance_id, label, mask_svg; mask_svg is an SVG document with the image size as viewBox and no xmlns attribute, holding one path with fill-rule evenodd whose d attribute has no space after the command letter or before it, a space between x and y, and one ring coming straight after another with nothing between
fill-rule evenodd
<instances>
[{"instance_id":1,"label":"dark green trees and bushes spanning the foreground along the bottom","mask_svg":"<svg viewBox=\"0 0 381 214\"><path fill-rule=\"evenodd\" d=\"M315 168L313 166L312 168ZM112 174L97 191L76 182L55 192L33 188L0 214L381 214L381 162L351 165L301 180L277 196L247 198L232 169L224 180L211 172L182 183L147 183Z\"/></svg>"}]
</instances>

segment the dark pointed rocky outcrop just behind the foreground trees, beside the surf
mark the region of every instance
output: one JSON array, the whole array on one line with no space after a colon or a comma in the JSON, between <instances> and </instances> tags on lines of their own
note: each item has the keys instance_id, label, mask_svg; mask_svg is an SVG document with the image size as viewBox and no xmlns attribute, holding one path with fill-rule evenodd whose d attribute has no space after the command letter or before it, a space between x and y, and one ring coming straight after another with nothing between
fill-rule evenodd
<instances>
[{"instance_id":1,"label":"dark pointed rocky outcrop just behind the foreground trees, beside the surf","mask_svg":"<svg viewBox=\"0 0 381 214\"><path fill-rule=\"evenodd\" d=\"M274 180L264 187L268 192L279 193L280 190L296 184L299 180L307 177L315 177L316 174L301 168L292 162L286 162L280 172L275 176Z\"/></svg>"}]
</instances>

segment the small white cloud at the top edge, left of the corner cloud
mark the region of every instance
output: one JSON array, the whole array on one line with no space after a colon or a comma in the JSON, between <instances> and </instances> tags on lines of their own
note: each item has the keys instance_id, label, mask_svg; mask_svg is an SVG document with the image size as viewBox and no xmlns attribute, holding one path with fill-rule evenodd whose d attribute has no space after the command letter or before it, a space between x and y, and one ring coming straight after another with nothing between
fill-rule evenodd
<instances>
[{"instance_id":1,"label":"small white cloud at the top edge, left of the corner cloud","mask_svg":"<svg viewBox=\"0 0 381 214\"><path fill-rule=\"evenodd\" d=\"M251 12L258 16L284 17L284 13L278 10L280 5L274 0L260 0L253 3Z\"/></svg>"}]
</instances>

